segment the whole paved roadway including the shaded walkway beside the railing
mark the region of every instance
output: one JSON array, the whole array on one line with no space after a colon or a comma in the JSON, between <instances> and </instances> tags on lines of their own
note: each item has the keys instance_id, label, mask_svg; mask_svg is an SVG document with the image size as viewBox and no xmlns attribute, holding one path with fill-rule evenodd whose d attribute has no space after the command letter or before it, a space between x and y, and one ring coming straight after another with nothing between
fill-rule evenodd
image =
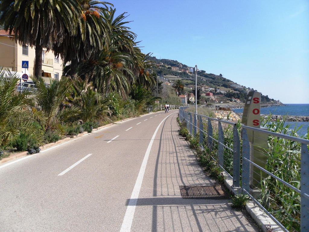
<instances>
[{"instance_id":1,"label":"whole paved roadway including the shaded walkway beside the railing","mask_svg":"<svg viewBox=\"0 0 309 232\"><path fill-rule=\"evenodd\" d=\"M178 110L147 114L0 166L0 231L256 231L178 136ZM169 116L169 117L167 117Z\"/></svg>"}]
</instances>

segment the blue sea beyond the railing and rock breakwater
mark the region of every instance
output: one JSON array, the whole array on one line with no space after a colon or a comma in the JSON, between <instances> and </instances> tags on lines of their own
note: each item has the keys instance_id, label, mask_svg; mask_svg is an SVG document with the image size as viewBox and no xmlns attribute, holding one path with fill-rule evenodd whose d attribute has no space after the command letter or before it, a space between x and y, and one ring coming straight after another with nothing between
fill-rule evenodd
<instances>
[{"instance_id":1,"label":"blue sea beyond the railing and rock breakwater","mask_svg":"<svg viewBox=\"0 0 309 232\"><path fill-rule=\"evenodd\" d=\"M243 109L234 109L235 113L243 113ZM277 115L294 115L294 116L309 116L309 104L285 104L284 106L270 106L261 108L261 114L277 114ZM290 129L300 127L298 135L307 134L309 122L286 122L285 125L290 125Z\"/></svg>"}]
</instances>

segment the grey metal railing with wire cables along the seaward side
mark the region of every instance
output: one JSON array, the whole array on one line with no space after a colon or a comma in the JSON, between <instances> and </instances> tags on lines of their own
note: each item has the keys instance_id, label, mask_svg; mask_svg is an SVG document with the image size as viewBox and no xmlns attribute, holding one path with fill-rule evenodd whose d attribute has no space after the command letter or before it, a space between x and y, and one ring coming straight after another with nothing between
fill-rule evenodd
<instances>
[{"instance_id":1,"label":"grey metal railing with wire cables along the seaward side","mask_svg":"<svg viewBox=\"0 0 309 232\"><path fill-rule=\"evenodd\" d=\"M309 140L195 114L189 107L179 108L180 121L233 179L232 188L284 231L309 231Z\"/></svg>"}]
</instances>

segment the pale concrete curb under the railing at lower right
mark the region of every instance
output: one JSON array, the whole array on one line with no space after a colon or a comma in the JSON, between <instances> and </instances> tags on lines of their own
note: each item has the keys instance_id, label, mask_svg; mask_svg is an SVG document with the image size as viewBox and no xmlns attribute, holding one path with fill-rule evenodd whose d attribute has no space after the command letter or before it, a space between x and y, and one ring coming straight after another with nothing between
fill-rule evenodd
<instances>
[{"instance_id":1,"label":"pale concrete curb under the railing at lower right","mask_svg":"<svg viewBox=\"0 0 309 232\"><path fill-rule=\"evenodd\" d=\"M234 195L241 193L241 189L232 188L233 179L227 174L226 171L223 171L224 175L224 185L226 188L233 193ZM273 232L283 232L280 226L277 225L258 205L253 201L249 201L246 205L246 211L250 214L252 219L259 225L260 229L263 232L268 232L266 226L270 225L273 229Z\"/></svg>"}]
</instances>

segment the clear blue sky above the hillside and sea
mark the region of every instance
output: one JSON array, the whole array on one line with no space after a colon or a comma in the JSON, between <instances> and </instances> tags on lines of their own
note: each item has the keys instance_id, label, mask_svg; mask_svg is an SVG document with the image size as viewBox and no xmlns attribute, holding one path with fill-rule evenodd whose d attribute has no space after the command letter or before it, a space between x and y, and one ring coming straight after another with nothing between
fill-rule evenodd
<instances>
[{"instance_id":1,"label":"clear blue sky above the hillside and sea","mask_svg":"<svg viewBox=\"0 0 309 232\"><path fill-rule=\"evenodd\" d=\"M309 0L115 0L144 53L309 104Z\"/></svg>"}]
</instances>

